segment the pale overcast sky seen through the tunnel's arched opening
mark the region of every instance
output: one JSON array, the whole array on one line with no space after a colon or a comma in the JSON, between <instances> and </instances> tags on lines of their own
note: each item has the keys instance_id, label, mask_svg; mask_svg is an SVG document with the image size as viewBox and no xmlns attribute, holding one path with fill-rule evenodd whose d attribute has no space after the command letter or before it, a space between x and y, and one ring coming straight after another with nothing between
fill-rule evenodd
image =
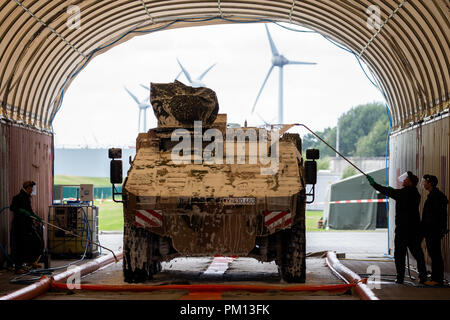
<instances>
[{"instance_id":1,"label":"pale overcast sky seen through the tunnel's arched opening","mask_svg":"<svg viewBox=\"0 0 450 320\"><path fill-rule=\"evenodd\" d=\"M322 130L335 126L354 106L384 101L352 54L317 33L292 32L273 23L269 30L286 58L317 63L284 67L285 123ZM55 117L56 146L134 146L138 107L123 87L139 100L148 98L139 84L172 82L180 71L177 57L194 78L217 63L203 81L216 92L219 113L226 113L228 122L263 124L251 109L271 66L264 25L190 27L137 36L93 59L72 82ZM272 123L277 123L278 72L272 71L256 107ZM188 83L184 76L179 80ZM150 108L147 127L155 126ZM305 129L290 132L306 134Z\"/></svg>"}]
</instances>

